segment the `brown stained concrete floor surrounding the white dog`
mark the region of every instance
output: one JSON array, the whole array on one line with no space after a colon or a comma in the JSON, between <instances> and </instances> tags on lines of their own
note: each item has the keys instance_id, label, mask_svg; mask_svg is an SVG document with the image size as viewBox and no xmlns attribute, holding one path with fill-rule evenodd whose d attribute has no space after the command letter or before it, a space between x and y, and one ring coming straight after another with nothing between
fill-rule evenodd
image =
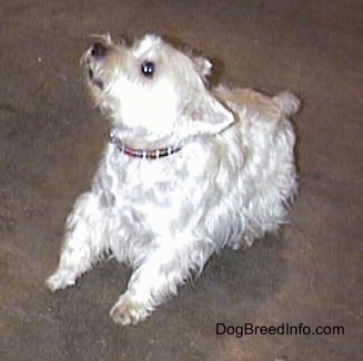
<instances>
[{"instance_id":1,"label":"brown stained concrete floor surrounding the white dog","mask_svg":"<svg viewBox=\"0 0 363 361\"><path fill-rule=\"evenodd\" d=\"M0 360L361 360L362 13L361 0L1 0ZM107 138L78 62L88 35L107 31L178 37L216 61L221 81L304 100L291 225L213 257L129 328L108 317L130 275L122 265L44 289ZM216 336L216 322L345 334L236 338Z\"/></svg>"}]
</instances>

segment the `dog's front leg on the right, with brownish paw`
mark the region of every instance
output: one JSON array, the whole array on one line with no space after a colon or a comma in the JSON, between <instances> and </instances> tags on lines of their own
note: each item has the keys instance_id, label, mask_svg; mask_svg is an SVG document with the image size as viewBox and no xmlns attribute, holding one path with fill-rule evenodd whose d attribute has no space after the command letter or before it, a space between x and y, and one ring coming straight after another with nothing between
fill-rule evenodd
<instances>
[{"instance_id":1,"label":"dog's front leg on the right, with brownish paw","mask_svg":"<svg viewBox=\"0 0 363 361\"><path fill-rule=\"evenodd\" d=\"M205 240L161 244L148 255L132 274L127 291L121 295L110 311L112 319L125 324L135 324L153 309L177 293L192 271L201 271L212 255L214 245Z\"/></svg>"}]
</instances>

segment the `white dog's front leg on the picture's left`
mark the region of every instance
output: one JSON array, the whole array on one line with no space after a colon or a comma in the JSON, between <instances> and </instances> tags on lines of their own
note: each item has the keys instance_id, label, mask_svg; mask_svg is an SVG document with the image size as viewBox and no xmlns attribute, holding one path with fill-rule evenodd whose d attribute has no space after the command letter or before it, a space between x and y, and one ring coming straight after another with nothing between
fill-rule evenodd
<instances>
[{"instance_id":1,"label":"white dog's front leg on the picture's left","mask_svg":"<svg viewBox=\"0 0 363 361\"><path fill-rule=\"evenodd\" d=\"M104 212L99 195L84 193L77 199L67 219L59 266L47 279L50 290L74 285L77 278L90 269L107 250Z\"/></svg>"}]
</instances>

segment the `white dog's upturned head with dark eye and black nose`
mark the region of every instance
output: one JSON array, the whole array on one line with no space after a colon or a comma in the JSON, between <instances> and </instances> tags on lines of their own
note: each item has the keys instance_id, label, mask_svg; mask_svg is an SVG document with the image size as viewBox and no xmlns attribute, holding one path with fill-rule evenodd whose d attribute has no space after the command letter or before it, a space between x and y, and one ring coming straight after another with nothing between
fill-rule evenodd
<instances>
[{"instance_id":1,"label":"white dog's upturned head with dark eye and black nose","mask_svg":"<svg viewBox=\"0 0 363 361\"><path fill-rule=\"evenodd\" d=\"M159 37L148 34L131 47L101 37L82 64L95 105L129 133L183 141L219 133L234 120L205 87L211 63Z\"/></svg>"}]
</instances>

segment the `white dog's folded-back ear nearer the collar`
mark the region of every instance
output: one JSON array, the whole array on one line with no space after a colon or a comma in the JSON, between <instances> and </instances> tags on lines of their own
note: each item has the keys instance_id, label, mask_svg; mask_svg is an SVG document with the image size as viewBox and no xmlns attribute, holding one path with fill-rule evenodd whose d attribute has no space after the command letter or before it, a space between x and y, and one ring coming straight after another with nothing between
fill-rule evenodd
<instances>
[{"instance_id":1,"label":"white dog's folded-back ear nearer the collar","mask_svg":"<svg viewBox=\"0 0 363 361\"><path fill-rule=\"evenodd\" d=\"M184 115L189 135L218 134L234 122L233 112L208 91L195 96Z\"/></svg>"}]
</instances>

